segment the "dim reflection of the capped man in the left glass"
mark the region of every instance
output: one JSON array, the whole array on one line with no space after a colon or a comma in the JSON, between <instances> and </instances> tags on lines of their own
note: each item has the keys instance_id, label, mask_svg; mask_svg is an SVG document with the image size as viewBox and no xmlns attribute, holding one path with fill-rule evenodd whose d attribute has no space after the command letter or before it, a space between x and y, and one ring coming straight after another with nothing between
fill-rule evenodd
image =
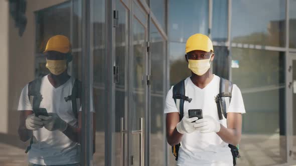
<instances>
[{"instance_id":1,"label":"dim reflection of the capped man in the left glass","mask_svg":"<svg viewBox=\"0 0 296 166\"><path fill-rule=\"evenodd\" d=\"M81 82L67 72L69 39L51 37L44 54L50 74L23 88L19 135L23 141L31 138L29 165L79 165Z\"/></svg>"}]
</instances>

